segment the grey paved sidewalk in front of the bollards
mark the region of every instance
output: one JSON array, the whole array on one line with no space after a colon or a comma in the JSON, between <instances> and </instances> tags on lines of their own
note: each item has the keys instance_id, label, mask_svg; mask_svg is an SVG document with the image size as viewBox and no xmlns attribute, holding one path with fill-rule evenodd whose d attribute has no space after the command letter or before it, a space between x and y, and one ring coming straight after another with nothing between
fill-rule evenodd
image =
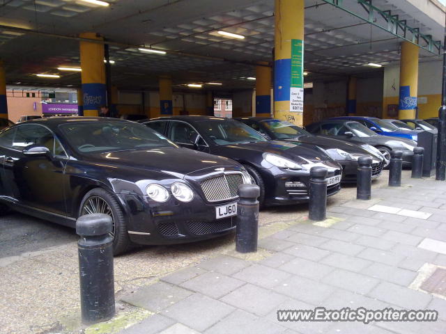
<instances>
[{"instance_id":1,"label":"grey paved sidewalk in front of the bollards","mask_svg":"<svg viewBox=\"0 0 446 334\"><path fill-rule=\"evenodd\" d=\"M151 316L119 333L446 333L446 184L403 184L329 207L322 223L284 222L258 253L231 250L123 296ZM317 306L431 309L439 319L277 321L277 310Z\"/></svg>"}]
</instances>

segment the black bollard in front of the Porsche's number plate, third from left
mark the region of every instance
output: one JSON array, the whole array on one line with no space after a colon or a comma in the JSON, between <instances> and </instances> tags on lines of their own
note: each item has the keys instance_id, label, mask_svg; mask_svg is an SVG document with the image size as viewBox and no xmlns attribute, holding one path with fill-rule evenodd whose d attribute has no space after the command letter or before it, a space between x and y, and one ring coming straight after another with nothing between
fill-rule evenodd
<instances>
[{"instance_id":1,"label":"black bollard in front of the Porsche's number plate, third from left","mask_svg":"<svg viewBox=\"0 0 446 334\"><path fill-rule=\"evenodd\" d=\"M308 218L323 221L327 213L327 175L325 167L312 167L309 170Z\"/></svg>"}]
</instances>

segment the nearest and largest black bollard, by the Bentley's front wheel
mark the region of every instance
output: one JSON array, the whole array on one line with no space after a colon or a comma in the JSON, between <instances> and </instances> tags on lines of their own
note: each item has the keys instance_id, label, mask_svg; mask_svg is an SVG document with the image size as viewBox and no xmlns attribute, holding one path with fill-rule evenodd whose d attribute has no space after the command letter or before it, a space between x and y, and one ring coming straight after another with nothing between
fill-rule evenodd
<instances>
[{"instance_id":1,"label":"nearest and largest black bollard, by the Bentley's front wheel","mask_svg":"<svg viewBox=\"0 0 446 334\"><path fill-rule=\"evenodd\" d=\"M115 313L112 228L107 214L86 214L76 221L84 324L107 321Z\"/></svg>"}]
</instances>

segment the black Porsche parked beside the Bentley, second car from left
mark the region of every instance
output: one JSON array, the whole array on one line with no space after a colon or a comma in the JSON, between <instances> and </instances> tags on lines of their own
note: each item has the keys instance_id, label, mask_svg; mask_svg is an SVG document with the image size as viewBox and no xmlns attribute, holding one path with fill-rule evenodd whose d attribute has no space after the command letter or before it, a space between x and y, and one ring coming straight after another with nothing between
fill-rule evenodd
<instances>
[{"instance_id":1,"label":"black Porsche parked beside the Bentley, second car from left","mask_svg":"<svg viewBox=\"0 0 446 334\"><path fill-rule=\"evenodd\" d=\"M185 148L234 159L260 186L262 205L289 205L309 200L309 170L328 168L328 196L340 188L341 166L324 150L305 143L268 141L251 127L226 118L174 116L142 120Z\"/></svg>"}]
</instances>

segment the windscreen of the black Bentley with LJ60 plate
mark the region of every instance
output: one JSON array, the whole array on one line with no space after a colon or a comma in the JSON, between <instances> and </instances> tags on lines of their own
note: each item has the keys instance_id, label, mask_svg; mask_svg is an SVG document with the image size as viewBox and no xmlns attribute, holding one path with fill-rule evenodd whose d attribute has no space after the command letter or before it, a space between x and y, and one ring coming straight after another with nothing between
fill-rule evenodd
<instances>
[{"instance_id":1,"label":"windscreen of the black Bentley with LJ60 plate","mask_svg":"<svg viewBox=\"0 0 446 334\"><path fill-rule=\"evenodd\" d=\"M59 129L70 145L82 153L178 148L162 134L134 122L72 122L59 125Z\"/></svg>"}]
</instances>

